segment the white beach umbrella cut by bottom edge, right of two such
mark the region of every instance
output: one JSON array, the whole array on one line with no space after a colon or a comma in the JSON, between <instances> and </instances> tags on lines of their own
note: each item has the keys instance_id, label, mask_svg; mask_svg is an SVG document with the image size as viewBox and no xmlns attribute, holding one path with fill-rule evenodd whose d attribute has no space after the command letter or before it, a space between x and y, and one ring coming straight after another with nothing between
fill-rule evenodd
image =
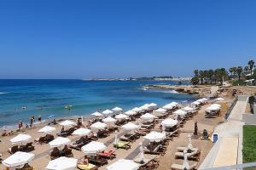
<instances>
[{"instance_id":1,"label":"white beach umbrella cut by bottom edge, right of two such","mask_svg":"<svg viewBox=\"0 0 256 170\"><path fill-rule=\"evenodd\" d=\"M119 159L107 167L107 170L137 170L139 164L132 160Z\"/></svg>"}]
</instances>

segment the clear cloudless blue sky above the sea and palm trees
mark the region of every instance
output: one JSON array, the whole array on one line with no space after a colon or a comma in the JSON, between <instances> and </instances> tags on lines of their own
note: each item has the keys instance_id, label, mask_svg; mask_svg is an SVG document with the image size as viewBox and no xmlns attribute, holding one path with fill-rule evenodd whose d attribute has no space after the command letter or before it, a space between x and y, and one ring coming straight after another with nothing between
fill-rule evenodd
<instances>
[{"instance_id":1,"label":"clear cloudless blue sky above the sea and palm trees","mask_svg":"<svg viewBox=\"0 0 256 170\"><path fill-rule=\"evenodd\" d=\"M0 2L0 78L191 76L249 56L253 0Z\"/></svg>"}]
</instances>

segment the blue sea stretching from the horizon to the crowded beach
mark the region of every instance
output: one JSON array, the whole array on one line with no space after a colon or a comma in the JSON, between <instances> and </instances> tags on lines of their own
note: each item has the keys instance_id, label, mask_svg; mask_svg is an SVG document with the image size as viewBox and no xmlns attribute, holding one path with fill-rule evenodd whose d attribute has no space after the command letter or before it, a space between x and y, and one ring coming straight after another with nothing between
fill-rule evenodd
<instances>
[{"instance_id":1,"label":"blue sea stretching from the horizon to the crowded beach","mask_svg":"<svg viewBox=\"0 0 256 170\"><path fill-rule=\"evenodd\" d=\"M145 84L177 84L177 82L82 81L82 80L0 80L0 127L14 125L30 116L77 116L112 109L125 111L154 102L164 105L172 101L195 99L189 94L172 94L171 90L143 90ZM73 105L68 111L65 105ZM26 109L21 109L26 106Z\"/></svg>"}]
</instances>

